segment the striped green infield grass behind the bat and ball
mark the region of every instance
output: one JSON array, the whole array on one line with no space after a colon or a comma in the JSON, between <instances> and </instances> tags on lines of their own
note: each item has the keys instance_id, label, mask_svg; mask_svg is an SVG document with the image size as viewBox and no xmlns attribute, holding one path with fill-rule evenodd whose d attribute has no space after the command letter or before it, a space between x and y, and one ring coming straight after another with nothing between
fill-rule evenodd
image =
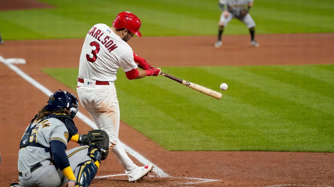
<instances>
[{"instance_id":1,"label":"striped green infield grass behind the bat and ball","mask_svg":"<svg viewBox=\"0 0 334 187\"><path fill-rule=\"evenodd\" d=\"M163 69L216 91L229 85L217 100L162 76L118 73L121 119L167 150L334 152L334 65ZM76 89L77 68L43 71Z\"/></svg>"}]
</instances>

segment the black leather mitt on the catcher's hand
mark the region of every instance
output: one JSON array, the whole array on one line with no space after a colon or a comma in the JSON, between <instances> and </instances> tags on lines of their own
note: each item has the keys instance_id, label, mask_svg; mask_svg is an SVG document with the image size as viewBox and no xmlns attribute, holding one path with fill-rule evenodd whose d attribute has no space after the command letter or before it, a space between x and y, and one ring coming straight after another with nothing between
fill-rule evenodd
<instances>
[{"instance_id":1,"label":"black leather mitt on the catcher's hand","mask_svg":"<svg viewBox=\"0 0 334 187\"><path fill-rule=\"evenodd\" d=\"M101 147L101 160L105 160L109 152L109 135L104 130L94 129L82 135L82 144L97 144Z\"/></svg>"}]
</instances>

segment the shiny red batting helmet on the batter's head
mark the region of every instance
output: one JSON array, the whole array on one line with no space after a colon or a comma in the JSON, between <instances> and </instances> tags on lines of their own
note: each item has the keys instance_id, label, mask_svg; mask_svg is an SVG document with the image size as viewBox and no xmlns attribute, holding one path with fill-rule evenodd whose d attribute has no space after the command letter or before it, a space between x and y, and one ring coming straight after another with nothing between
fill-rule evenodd
<instances>
[{"instance_id":1,"label":"shiny red batting helmet on the batter's head","mask_svg":"<svg viewBox=\"0 0 334 187\"><path fill-rule=\"evenodd\" d=\"M132 14L131 12L119 13L113 22L113 26L116 29L128 29L138 37L142 36L142 34L139 32L139 29L142 26L142 22L136 15Z\"/></svg>"}]
</instances>

